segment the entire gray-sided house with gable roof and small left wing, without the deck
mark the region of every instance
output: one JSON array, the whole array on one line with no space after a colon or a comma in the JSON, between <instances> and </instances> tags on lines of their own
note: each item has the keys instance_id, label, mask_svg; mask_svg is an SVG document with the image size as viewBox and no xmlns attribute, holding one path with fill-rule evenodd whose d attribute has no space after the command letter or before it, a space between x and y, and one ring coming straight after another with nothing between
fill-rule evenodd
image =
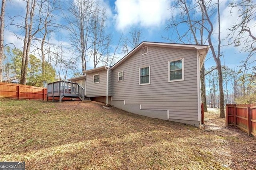
<instances>
[{"instance_id":1,"label":"entire gray-sided house with gable roof and small left wing, without the deck","mask_svg":"<svg viewBox=\"0 0 256 170\"><path fill-rule=\"evenodd\" d=\"M84 71L86 96L131 113L199 127L200 69L208 49L142 42L112 67Z\"/></svg>"}]
</instances>

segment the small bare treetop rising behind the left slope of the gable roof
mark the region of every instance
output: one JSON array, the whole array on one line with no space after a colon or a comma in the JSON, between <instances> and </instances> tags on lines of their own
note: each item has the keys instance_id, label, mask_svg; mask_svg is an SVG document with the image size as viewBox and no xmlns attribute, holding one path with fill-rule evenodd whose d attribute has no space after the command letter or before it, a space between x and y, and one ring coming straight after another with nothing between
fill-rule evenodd
<instances>
[{"instance_id":1,"label":"small bare treetop rising behind the left slope of the gable roof","mask_svg":"<svg viewBox=\"0 0 256 170\"><path fill-rule=\"evenodd\" d=\"M140 30L135 29L130 32L129 35L130 36L126 37L123 42L122 50L125 55L139 45L142 39L142 32Z\"/></svg>"}]
</instances>

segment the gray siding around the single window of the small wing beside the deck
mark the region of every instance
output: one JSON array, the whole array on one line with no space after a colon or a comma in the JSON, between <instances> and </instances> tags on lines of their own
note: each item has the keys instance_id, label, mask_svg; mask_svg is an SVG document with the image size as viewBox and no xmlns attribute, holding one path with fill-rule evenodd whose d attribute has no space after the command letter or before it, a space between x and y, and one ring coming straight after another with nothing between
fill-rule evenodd
<instances>
[{"instance_id":1,"label":"gray siding around the single window of the small wing beside the deck","mask_svg":"<svg viewBox=\"0 0 256 170\"><path fill-rule=\"evenodd\" d=\"M93 75L100 74L100 83L93 83ZM106 96L106 85L107 85L107 71L97 71L94 73L87 74L86 77L86 96L87 97L98 97Z\"/></svg>"}]
</instances>

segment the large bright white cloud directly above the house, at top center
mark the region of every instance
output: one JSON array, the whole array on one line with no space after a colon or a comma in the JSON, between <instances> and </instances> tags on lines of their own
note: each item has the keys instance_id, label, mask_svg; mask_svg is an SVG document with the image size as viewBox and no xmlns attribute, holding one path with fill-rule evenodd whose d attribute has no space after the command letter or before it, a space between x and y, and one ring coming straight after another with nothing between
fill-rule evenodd
<instances>
[{"instance_id":1,"label":"large bright white cloud directly above the house, at top center","mask_svg":"<svg viewBox=\"0 0 256 170\"><path fill-rule=\"evenodd\" d=\"M159 27L170 18L170 1L166 0L117 0L116 25L118 30L132 26Z\"/></svg>"}]
</instances>

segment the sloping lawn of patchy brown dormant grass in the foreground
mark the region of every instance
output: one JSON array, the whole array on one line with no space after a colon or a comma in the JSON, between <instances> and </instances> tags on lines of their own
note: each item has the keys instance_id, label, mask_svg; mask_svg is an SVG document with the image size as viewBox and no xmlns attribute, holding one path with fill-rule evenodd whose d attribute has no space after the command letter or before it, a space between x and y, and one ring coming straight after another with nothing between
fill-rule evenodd
<instances>
[{"instance_id":1,"label":"sloping lawn of patchy brown dormant grass in the foreground","mask_svg":"<svg viewBox=\"0 0 256 170\"><path fill-rule=\"evenodd\" d=\"M102 105L0 100L0 161L29 170L256 168L256 140L236 128L203 130Z\"/></svg>"}]
</instances>

